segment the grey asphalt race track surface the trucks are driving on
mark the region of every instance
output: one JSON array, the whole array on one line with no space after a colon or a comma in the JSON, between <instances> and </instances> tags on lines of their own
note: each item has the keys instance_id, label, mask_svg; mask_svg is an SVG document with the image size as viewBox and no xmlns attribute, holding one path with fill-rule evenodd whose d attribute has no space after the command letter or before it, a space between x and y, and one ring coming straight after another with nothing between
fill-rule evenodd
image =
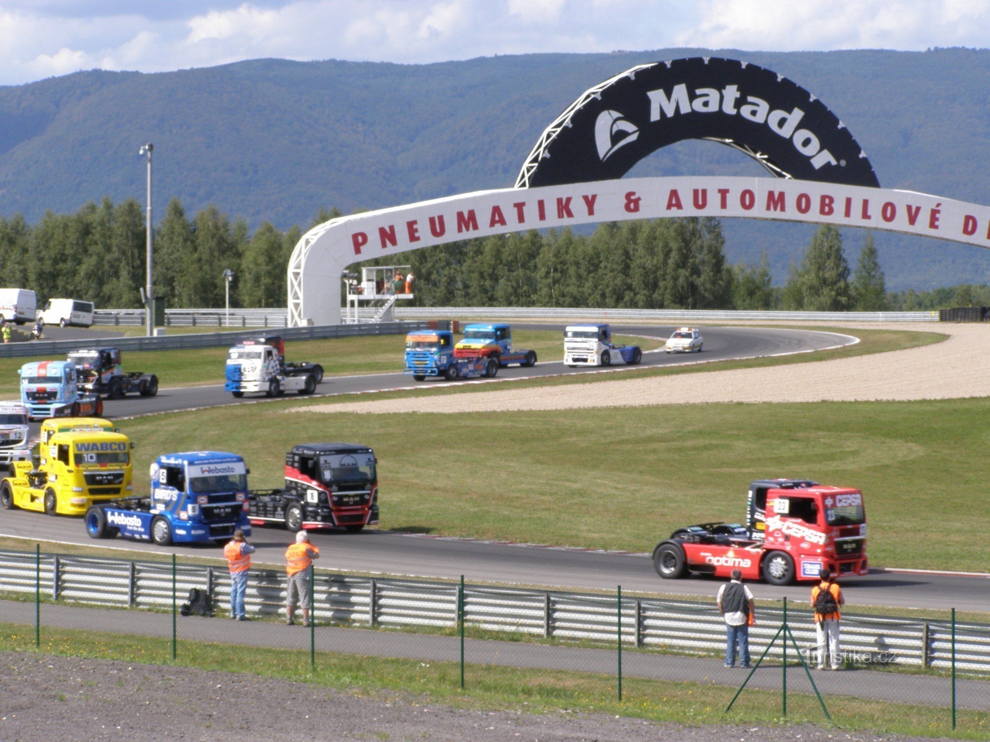
<instances>
[{"instance_id":1,"label":"grey asphalt race track surface the trucks are driving on","mask_svg":"<svg viewBox=\"0 0 990 742\"><path fill-rule=\"evenodd\" d=\"M514 326L562 329L562 325L514 324ZM943 329L940 325L926 325L917 328L929 331ZM665 338L669 336L672 327L613 325L613 331L617 334ZM698 363L699 361L803 353L847 345L857 341L854 329L850 329L849 334L844 334L808 330L800 327L703 326L702 332L705 340L702 353L667 355L662 351L647 352L644 354L643 365L656 367ZM915 350L923 350L923 348ZM396 336L396 355L397 358L401 357L401 336L398 335ZM871 357L873 356L862 356L861 358ZM812 368L823 364L801 365L805 368ZM589 381L598 381L599 379L611 381L623 378L623 368L625 367L619 366L608 370L568 369L561 362L551 361L541 362L536 367L529 369L515 366L504 368L495 380L469 381L462 382L462 384L491 384L495 385L492 386L494 391L503 388L511 389L513 385L500 383L505 380L561 374L585 374L589 375ZM757 371L759 369L744 370ZM761 370L772 370L772 367ZM705 375L712 376L713 374ZM698 375L691 374L689 376ZM408 376L392 373L349 377L328 376L320 385L318 393L322 396L338 396L405 388L430 388L440 385L445 385L445 382L428 381L417 385ZM285 399L296 398L289 396ZM373 397L366 399L370 400ZM412 399L415 400L416 397ZM223 391L223 387L220 385L184 389L163 388L156 398L134 398L107 402L106 413L108 417L139 417L148 414L174 413L223 405L249 404L251 401L251 399L234 400L230 394ZM273 401L266 404L278 404L278 402ZM136 472L137 480L140 481L142 476L142 472ZM385 498L383 506L387 504L387 495ZM77 518L45 517L38 513L7 511L0 522L2 522L0 535L94 545L92 539L85 534L82 523ZM657 539L664 535L666 534L658 533ZM289 537L288 533L279 528L255 528L254 536L251 539L258 549L255 561L282 564ZM622 585L623 589L627 591L689 595L706 600L711 599L719 585L717 581L703 578L671 582L661 581L653 571L648 553L631 554L580 548L545 547L407 534L378 529L368 529L357 534L349 534L344 531L316 531L311 532L311 537L321 547L325 555L321 566L346 572L401 574L442 579L456 579L460 575L465 575L474 582L533 585L565 590L614 590L617 585ZM25 542L26 547L28 543L28 541ZM101 542L99 545L122 550L138 549L158 553L171 551L171 549L152 544L128 541ZM644 544L644 552L651 549L653 545L652 543ZM185 556L220 557L219 551L213 547L186 547L176 551ZM866 577L845 580L843 585L847 587L850 599L854 596L854 603L859 605L888 605L905 608L941 608L946 605L953 605L963 610L985 610L984 591L988 587L987 580L988 577L982 575L873 570ZM807 587L804 585L787 588L759 585L755 587L755 591L760 599L778 599L787 596L789 599L800 603L807 600Z\"/></svg>"}]
</instances>

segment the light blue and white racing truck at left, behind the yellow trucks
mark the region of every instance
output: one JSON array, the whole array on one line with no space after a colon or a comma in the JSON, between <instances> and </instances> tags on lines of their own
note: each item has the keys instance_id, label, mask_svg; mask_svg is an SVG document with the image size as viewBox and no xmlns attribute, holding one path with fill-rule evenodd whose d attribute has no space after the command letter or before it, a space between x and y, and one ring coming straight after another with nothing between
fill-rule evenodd
<instances>
[{"instance_id":1,"label":"light blue and white racing truck at left, behind the yellow trucks","mask_svg":"<svg viewBox=\"0 0 990 742\"><path fill-rule=\"evenodd\" d=\"M33 361L21 366L21 402L28 417L79 417L103 415L103 400L79 389L72 361Z\"/></svg>"}]
</instances>

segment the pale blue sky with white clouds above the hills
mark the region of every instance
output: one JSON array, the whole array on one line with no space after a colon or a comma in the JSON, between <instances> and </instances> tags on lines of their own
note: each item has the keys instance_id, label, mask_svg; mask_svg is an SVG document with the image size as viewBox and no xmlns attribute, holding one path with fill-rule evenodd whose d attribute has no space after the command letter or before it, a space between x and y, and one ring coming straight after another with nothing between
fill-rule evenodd
<instances>
[{"instance_id":1,"label":"pale blue sky with white clouds above the hills","mask_svg":"<svg viewBox=\"0 0 990 742\"><path fill-rule=\"evenodd\" d=\"M988 0L0 0L0 84L241 59L990 45Z\"/></svg>"}]
</instances>

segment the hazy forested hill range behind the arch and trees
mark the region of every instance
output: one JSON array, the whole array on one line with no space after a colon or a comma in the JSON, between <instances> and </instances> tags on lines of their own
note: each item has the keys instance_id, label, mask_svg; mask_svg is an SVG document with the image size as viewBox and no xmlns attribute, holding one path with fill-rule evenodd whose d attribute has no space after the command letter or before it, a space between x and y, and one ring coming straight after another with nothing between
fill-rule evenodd
<instances>
[{"instance_id":1,"label":"hazy forested hill range behind the arch and trees","mask_svg":"<svg viewBox=\"0 0 990 742\"><path fill-rule=\"evenodd\" d=\"M158 74L80 72L0 88L0 215L75 211L104 195L155 214L177 196L253 227L308 224L321 207L392 206L510 186L545 126L592 84L644 61L718 54L819 96L885 187L990 203L990 50L750 52L662 49L498 56L428 65L258 59ZM711 142L654 153L635 174L763 174ZM726 225L733 261L770 255L782 282L812 228ZM861 237L846 234L850 260ZM990 281L981 248L876 235L892 289Z\"/></svg>"}]
</instances>

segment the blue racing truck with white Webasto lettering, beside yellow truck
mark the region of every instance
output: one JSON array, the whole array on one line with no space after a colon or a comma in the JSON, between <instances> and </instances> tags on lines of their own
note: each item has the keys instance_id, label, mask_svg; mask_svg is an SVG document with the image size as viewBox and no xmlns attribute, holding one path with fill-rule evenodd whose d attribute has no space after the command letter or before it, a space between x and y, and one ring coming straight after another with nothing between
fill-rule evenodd
<instances>
[{"instance_id":1,"label":"blue racing truck with white Webasto lettering, beside yellow truck","mask_svg":"<svg viewBox=\"0 0 990 742\"><path fill-rule=\"evenodd\" d=\"M83 518L92 538L123 536L172 543L229 541L247 519L247 467L234 453L195 451L158 456L150 468L150 497L94 505Z\"/></svg>"}]
</instances>

